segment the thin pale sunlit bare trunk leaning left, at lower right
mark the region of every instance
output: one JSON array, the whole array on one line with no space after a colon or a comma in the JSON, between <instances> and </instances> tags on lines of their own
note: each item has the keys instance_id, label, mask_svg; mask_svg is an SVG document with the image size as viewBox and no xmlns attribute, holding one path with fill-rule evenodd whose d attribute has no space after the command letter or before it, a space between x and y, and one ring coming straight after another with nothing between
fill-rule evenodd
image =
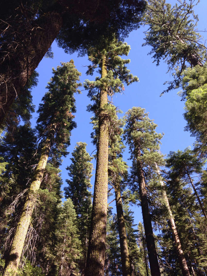
<instances>
[{"instance_id":1,"label":"thin pale sunlit bare trunk leaning left, at lower right","mask_svg":"<svg viewBox=\"0 0 207 276\"><path fill-rule=\"evenodd\" d=\"M157 168L157 173L159 175L160 171L159 171L159 168L158 168L157 165L156 165L156 168ZM165 206L168 210L170 228L171 228L172 236L173 236L173 239L174 239L174 242L175 242L175 247L177 249L178 260L179 260L179 264L180 264L180 267L181 267L182 275L183 276L190 276L189 269L188 269L188 266L187 266L187 262L186 262L184 254L183 254L183 251L182 251L181 241L180 241L180 238L178 236L175 221L174 221L174 218L172 216L171 209L170 209L168 197L167 197L166 191L164 189L164 183L163 183L163 181L160 181L160 183L163 187L162 196L163 196L163 199L164 199Z\"/></svg>"}]
</instances>

